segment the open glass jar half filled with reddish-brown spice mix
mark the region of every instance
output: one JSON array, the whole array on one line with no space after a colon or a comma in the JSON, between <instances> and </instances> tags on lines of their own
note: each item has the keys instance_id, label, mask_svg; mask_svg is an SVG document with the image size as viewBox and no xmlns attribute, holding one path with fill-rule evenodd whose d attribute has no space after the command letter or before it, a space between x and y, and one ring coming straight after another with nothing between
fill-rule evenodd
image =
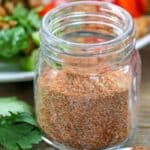
<instances>
[{"instance_id":1,"label":"open glass jar half filled with reddish-brown spice mix","mask_svg":"<svg viewBox=\"0 0 150 150\"><path fill-rule=\"evenodd\" d=\"M80 1L43 19L35 79L37 122L59 149L116 149L136 128L140 57L122 8Z\"/></svg>"}]
</instances>

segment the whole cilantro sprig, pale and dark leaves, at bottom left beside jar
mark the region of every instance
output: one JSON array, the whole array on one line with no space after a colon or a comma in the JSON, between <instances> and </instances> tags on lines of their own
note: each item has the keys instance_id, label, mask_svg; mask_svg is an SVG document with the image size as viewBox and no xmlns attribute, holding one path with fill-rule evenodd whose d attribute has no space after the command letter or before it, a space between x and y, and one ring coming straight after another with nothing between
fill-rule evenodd
<instances>
[{"instance_id":1,"label":"whole cilantro sprig, pale and dark leaves, at bottom left beside jar","mask_svg":"<svg viewBox=\"0 0 150 150\"><path fill-rule=\"evenodd\" d=\"M42 140L42 132L28 104L10 97L0 98L0 105L3 106L3 110L0 109L0 146L6 150L26 150Z\"/></svg>"}]
</instances>

